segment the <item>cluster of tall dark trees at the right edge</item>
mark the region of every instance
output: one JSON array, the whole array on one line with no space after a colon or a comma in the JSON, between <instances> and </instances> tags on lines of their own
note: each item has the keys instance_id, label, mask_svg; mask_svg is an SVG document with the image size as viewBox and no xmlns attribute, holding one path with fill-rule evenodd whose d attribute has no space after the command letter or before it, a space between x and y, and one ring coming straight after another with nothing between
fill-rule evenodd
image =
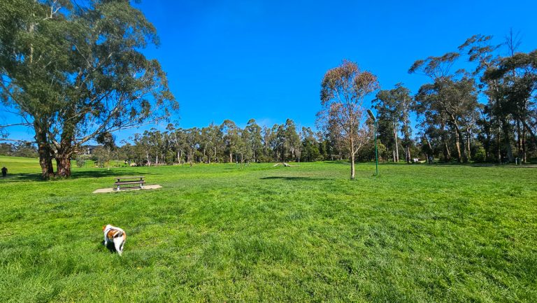
<instances>
[{"instance_id":1,"label":"cluster of tall dark trees at the right edge","mask_svg":"<svg viewBox=\"0 0 537 303\"><path fill-rule=\"evenodd\" d=\"M458 52L418 60L410 73L431 80L415 95L420 140L429 154L467 162L475 155L490 162L527 162L535 156L537 129L537 50L517 52L511 33L495 45L476 35ZM501 54L508 54L502 56ZM471 70L452 71L457 60Z\"/></svg>"}]
</instances>

